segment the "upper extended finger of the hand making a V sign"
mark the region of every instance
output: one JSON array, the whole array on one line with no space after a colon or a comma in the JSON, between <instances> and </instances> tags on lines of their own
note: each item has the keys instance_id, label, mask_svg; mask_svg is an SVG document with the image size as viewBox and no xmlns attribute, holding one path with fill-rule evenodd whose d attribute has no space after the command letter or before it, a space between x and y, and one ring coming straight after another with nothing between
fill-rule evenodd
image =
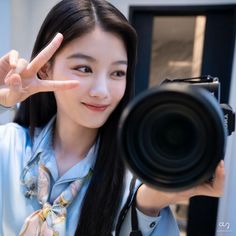
<instances>
[{"instance_id":1,"label":"upper extended finger of the hand making a V sign","mask_svg":"<svg viewBox=\"0 0 236 236\"><path fill-rule=\"evenodd\" d=\"M32 73L37 73L60 47L62 40L63 35L61 33L57 33L53 40L29 63L27 70Z\"/></svg>"}]
</instances>

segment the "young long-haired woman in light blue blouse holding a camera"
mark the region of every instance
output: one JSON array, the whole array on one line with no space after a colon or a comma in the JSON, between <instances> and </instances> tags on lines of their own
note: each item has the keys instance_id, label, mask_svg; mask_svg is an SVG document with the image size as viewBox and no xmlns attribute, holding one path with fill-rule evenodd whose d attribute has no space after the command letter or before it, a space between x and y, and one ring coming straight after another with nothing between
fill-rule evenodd
<instances>
[{"instance_id":1,"label":"young long-haired woman in light blue blouse holding a camera","mask_svg":"<svg viewBox=\"0 0 236 236\"><path fill-rule=\"evenodd\" d=\"M134 29L103 0L59 2L30 63L16 51L0 59L1 109L21 102L0 127L0 235L125 236L132 208L142 235L175 236L169 204L222 194L223 163L213 183L180 193L125 169L116 133L135 60Z\"/></svg>"}]
</instances>

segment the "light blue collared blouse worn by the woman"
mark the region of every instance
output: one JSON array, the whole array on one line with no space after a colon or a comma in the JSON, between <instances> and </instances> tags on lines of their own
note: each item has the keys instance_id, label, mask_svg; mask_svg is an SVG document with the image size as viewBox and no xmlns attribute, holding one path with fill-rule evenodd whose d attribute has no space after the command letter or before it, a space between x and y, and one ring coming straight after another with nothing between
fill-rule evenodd
<instances>
[{"instance_id":1,"label":"light blue collared blouse worn by the woman","mask_svg":"<svg viewBox=\"0 0 236 236\"><path fill-rule=\"evenodd\" d=\"M40 204L34 196L35 189L32 187L40 162L46 164L52 175L50 202L53 202L71 181L85 176L88 170L94 166L97 151L95 145L84 160L59 177L51 145L52 123L53 121L50 121L44 129L37 130L34 144L30 142L28 130L18 124L9 123L0 126L0 236L18 235L25 219L40 208ZM131 173L127 171L126 188L120 210L129 195L131 177ZM67 210L66 235L68 236L74 235L76 230L82 200L88 184L89 181L83 185ZM139 184L137 183L137 186ZM32 191L27 192L26 186L31 186ZM121 236L129 235L130 221L129 210L121 227ZM143 236L179 235L176 221L168 207L162 209L159 217L145 216L138 211L138 221Z\"/></svg>"}]
</instances>

